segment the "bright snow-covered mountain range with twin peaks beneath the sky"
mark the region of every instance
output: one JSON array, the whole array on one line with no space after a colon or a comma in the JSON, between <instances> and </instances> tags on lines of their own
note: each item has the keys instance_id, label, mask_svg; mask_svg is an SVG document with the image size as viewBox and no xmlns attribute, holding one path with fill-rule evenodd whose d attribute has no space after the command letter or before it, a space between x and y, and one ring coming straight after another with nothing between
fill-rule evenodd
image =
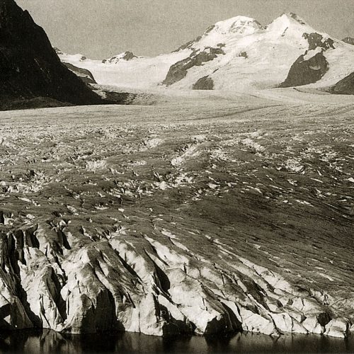
<instances>
[{"instance_id":1,"label":"bright snow-covered mountain range with twin peaks beneath the sky","mask_svg":"<svg viewBox=\"0 0 354 354\"><path fill-rule=\"evenodd\" d=\"M329 42L329 47L322 47ZM130 55L130 60L124 59L125 55L104 64L82 55L62 55L61 59L89 69L98 84L137 89L254 91L280 84L323 87L354 71L354 47L320 33L295 13L285 13L266 26L253 18L236 16L215 23L169 54Z\"/></svg>"}]
</instances>

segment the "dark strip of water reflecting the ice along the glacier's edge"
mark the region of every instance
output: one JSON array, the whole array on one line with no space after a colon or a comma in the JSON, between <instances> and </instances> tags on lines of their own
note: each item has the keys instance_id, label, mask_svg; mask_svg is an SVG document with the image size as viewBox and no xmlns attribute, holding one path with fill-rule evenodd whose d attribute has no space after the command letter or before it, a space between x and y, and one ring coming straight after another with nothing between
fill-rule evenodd
<instances>
[{"instance_id":1,"label":"dark strip of water reflecting the ice along the glacier's edge","mask_svg":"<svg viewBox=\"0 0 354 354\"><path fill-rule=\"evenodd\" d=\"M44 329L1 332L0 353L354 353L354 338L236 333L167 339L138 333L70 336Z\"/></svg>"}]
</instances>

